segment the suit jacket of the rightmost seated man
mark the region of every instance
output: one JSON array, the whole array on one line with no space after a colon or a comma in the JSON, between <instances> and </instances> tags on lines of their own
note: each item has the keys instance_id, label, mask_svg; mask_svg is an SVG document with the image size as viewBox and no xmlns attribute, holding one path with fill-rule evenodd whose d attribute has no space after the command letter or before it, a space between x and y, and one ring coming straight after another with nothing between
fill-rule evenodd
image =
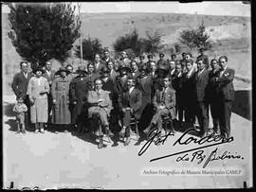
<instances>
[{"instance_id":1,"label":"suit jacket of the rightmost seated man","mask_svg":"<svg viewBox=\"0 0 256 192\"><path fill-rule=\"evenodd\" d=\"M170 112L172 119L176 118L176 112L175 112L176 96L175 96L174 89L168 87L166 93L163 96L163 100L162 100L162 94L163 94L163 91L159 89L156 90L155 96L153 98L153 105L156 108L161 103L164 103L164 105Z\"/></svg>"}]
</instances>

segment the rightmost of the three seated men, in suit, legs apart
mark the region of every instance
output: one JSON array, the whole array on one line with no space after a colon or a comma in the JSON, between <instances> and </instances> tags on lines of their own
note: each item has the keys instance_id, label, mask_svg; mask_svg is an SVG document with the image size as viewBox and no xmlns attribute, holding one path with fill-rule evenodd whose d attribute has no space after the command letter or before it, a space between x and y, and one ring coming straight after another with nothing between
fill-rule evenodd
<instances>
[{"instance_id":1,"label":"rightmost of the three seated men, in suit, legs apart","mask_svg":"<svg viewBox=\"0 0 256 192\"><path fill-rule=\"evenodd\" d=\"M171 131L174 132L173 119L175 119L175 91L169 86L171 83L170 77L164 78L163 82L163 89L156 90L155 96L153 98L153 104L156 112L151 120L149 127L144 130L146 134L148 134L155 126L157 126L158 131L161 131L162 133L162 116L167 115L171 116Z\"/></svg>"}]
</instances>

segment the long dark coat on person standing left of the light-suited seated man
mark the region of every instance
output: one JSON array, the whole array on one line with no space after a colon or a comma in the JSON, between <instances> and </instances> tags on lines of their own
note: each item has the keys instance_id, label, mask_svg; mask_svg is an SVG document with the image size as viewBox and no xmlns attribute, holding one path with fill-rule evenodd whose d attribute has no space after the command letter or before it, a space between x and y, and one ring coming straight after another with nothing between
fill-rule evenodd
<instances>
[{"instance_id":1,"label":"long dark coat on person standing left of the light-suited seated man","mask_svg":"<svg viewBox=\"0 0 256 192\"><path fill-rule=\"evenodd\" d=\"M78 117L86 112L86 96L88 94L88 79L78 76L70 83L71 122L76 123ZM74 102L77 104L73 104ZM84 116L85 118L85 116Z\"/></svg>"}]
</instances>

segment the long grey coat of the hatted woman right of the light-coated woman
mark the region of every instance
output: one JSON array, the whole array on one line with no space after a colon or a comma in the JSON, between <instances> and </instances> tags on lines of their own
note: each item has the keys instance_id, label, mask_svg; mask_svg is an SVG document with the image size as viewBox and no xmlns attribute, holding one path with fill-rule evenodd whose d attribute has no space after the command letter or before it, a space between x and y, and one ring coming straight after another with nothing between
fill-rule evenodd
<instances>
[{"instance_id":1,"label":"long grey coat of the hatted woman right of the light-coated woman","mask_svg":"<svg viewBox=\"0 0 256 192\"><path fill-rule=\"evenodd\" d=\"M58 77L53 80L51 93L56 103L53 107L52 123L53 124L70 124L71 114L69 111L69 84L68 77Z\"/></svg>"}]
</instances>

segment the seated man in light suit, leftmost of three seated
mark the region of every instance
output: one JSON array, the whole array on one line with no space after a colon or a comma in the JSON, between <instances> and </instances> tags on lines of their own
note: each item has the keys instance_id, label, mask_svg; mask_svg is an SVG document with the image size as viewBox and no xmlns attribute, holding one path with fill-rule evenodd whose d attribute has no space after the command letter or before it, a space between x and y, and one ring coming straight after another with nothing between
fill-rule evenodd
<instances>
[{"instance_id":1,"label":"seated man in light suit, leftmost of three seated","mask_svg":"<svg viewBox=\"0 0 256 192\"><path fill-rule=\"evenodd\" d=\"M108 136L114 136L114 134L109 130L109 124L107 117L112 109L111 100L109 98L108 92L101 89L102 80L100 78L95 79L95 89L89 91L88 93L88 118L93 119L93 125L97 124L100 119L100 143L98 148L103 147L103 132L102 127L105 129ZM96 121L97 120L97 121Z\"/></svg>"}]
</instances>

